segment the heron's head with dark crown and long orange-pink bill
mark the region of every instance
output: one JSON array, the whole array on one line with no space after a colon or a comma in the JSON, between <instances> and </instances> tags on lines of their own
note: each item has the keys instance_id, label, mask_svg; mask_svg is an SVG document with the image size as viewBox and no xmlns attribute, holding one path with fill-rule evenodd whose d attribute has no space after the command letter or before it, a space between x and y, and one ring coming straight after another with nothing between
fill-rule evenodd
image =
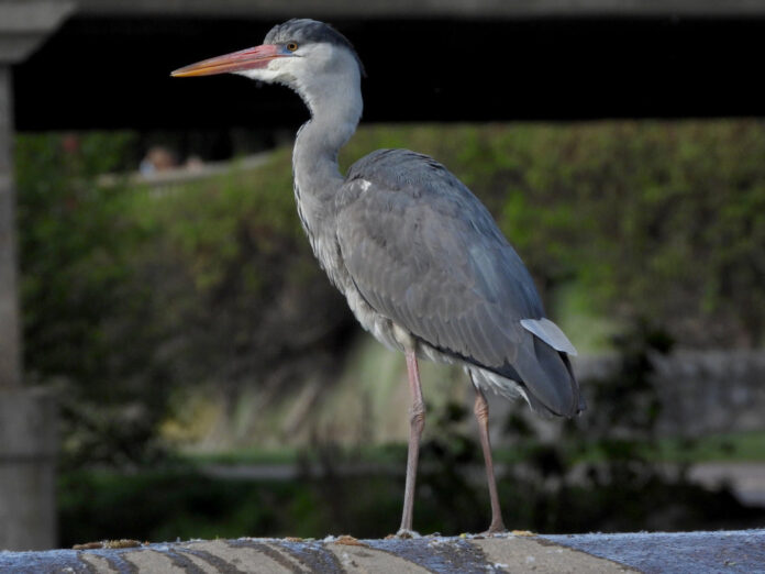
<instances>
[{"instance_id":1,"label":"heron's head with dark crown and long orange-pink bill","mask_svg":"<svg viewBox=\"0 0 765 574\"><path fill-rule=\"evenodd\" d=\"M315 20L292 19L274 26L260 46L191 64L173 76L225 73L284 84L310 100L339 82L358 85L364 68L351 42L335 29Z\"/></svg>"}]
</instances>

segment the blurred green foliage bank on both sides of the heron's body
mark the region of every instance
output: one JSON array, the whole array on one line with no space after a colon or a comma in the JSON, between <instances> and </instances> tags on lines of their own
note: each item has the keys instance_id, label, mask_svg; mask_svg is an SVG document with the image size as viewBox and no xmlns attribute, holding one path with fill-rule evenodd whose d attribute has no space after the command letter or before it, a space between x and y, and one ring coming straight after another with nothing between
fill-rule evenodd
<instances>
[{"instance_id":1,"label":"blurred green foliage bank on both sides of the heron's body","mask_svg":"<svg viewBox=\"0 0 765 574\"><path fill-rule=\"evenodd\" d=\"M355 329L302 236L289 150L182 185L99 184L134 145L16 142L26 371L60 385L77 463L140 461L195 385L230 393L233 413L244 385L330 382ZM573 302L586 328L645 317L684 346L762 343L762 121L369 126L341 163L395 146L487 203L553 314Z\"/></svg>"}]
</instances>

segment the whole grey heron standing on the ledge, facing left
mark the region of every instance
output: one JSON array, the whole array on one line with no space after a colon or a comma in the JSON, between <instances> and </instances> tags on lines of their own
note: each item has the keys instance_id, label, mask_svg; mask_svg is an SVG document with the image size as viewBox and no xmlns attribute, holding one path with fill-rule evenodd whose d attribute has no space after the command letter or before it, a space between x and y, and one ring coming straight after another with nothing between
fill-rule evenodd
<instances>
[{"instance_id":1,"label":"whole grey heron standing on the ledge, facing left","mask_svg":"<svg viewBox=\"0 0 765 574\"><path fill-rule=\"evenodd\" d=\"M412 529L425 421L418 358L458 364L469 376L491 501L488 532L503 531L485 390L523 397L543 415L572 417L585 408L568 358L576 351L545 318L523 262L481 202L431 157L379 150L340 173L337 152L362 115L363 66L332 26L289 20L263 45L173 76L222 73L282 84L308 106L292 155L300 221L356 319L406 356L412 406L399 533Z\"/></svg>"}]
</instances>

